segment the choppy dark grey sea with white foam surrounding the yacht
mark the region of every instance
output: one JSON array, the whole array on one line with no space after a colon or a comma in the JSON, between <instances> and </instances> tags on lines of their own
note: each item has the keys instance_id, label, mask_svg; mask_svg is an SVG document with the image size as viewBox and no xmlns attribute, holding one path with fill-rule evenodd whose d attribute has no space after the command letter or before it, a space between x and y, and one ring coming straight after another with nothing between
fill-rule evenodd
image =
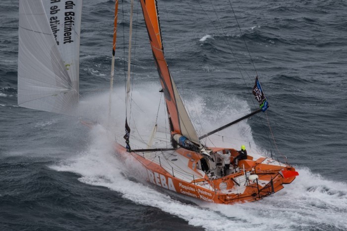
<instances>
[{"instance_id":1,"label":"choppy dark grey sea with white foam surrounding the yacht","mask_svg":"<svg viewBox=\"0 0 347 231\"><path fill-rule=\"evenodd\" d=\"M82 9L80 116L101 124L108 114L114 4L84 0ZM124 126L129 4L119 2L112 129ZM256 108L257 73L267 114L206 142L246 144L280 161L286 156L300 176L261 201L235 205L147 184L137 163L116 158L106 126L90 130L75 116L17 106L18 0L1 0L0 229L347 230L347 2L158 0L158 7L166 58L198 133ZM131 124L146 133L161 88L138 1L133 28Z\"/></svg>"}]
</instances>

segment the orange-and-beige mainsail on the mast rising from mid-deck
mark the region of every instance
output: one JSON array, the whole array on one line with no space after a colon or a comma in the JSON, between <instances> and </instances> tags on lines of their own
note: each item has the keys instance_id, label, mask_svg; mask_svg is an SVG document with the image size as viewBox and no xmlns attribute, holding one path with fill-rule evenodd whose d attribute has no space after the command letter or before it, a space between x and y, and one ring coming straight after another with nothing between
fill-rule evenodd
<instances>
[{"instance_id":1,"label":"orange-and-beige mainsail on the mast rising from mid-deck","mask_svg":"<svg viewBox=\"0 0 347 231\"><path fill-rule=\"evenodd\" d=\"M141 0L141 7L152 47L154 61L158 69L160 82L163 87L166 104L173 124L173 132L181 134L200 145L199 138L189 119L188 113L184 108L176 85L171 78L168 64L165 60L155 0Z\"/></svg>"}]
</instances>

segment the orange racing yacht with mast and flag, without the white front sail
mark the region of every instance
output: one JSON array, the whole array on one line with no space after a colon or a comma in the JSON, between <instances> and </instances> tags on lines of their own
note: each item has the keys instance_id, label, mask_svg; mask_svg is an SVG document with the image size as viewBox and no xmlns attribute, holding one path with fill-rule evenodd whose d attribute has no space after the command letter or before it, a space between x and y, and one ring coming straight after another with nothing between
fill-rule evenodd
<instances>
[{"instance_id":1,"label":"orange racing yacht with mast and flag, without the white front sail","mask_svg":"<svg viewBox=\"0 0 347 231\"><path fill-rule=\"evenodd\" d=\"M116 143L116 153L121 157L131 156L133 160L139 161L146 169L150 183L214 203L230 204L259 200L281 190L284 184L291 183L298 173L288 164L268 157L247 154L245 150L236 151L234 148L208 147L203 144L204 138L256 113L264 112L269 107L260 81L256 77L253 88L253 94L260 104L259 109L199 137L178 94L165 59L157 1L140 0L140 2L165 96L171 134L168 140L154 129L147 147L143 147L143 142L130 135L127 118L124 136L126 145ZM131 24L129 37L130 46ZM128 62L128 83L129 69L130 62ZM127 94L129 92L130 88L127 86ZM128 96L126 101L129 101ZM171 147L165 146L166 142L162 147L153 143L155 136L169 142Z\"/></svg>"}]
</instances>

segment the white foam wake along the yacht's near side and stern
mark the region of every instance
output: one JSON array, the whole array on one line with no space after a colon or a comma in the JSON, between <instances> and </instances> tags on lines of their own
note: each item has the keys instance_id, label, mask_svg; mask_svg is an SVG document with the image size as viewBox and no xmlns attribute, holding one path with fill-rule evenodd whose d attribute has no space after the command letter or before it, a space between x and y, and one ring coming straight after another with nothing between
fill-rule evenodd
<instances>
[{"instance_id":1,"label":"white foam wake along the yacht's near side and stern","mask_svg":"<svg viewBox=\"0 0 347 231\"><path fill-rule=\"evenodd\" d=\"M143 183L140 165L127 162L124 166L113 152L112 137L101 126L92 129L91 137L85 151L51 168L78 173L83 183L106 186L124 198L157 207L206 230L298 230L314 224L347 229L347 185L324 180L308 169L299 169L300 176L292 184L257 202L218 205L194 200L195 206ZM126 177L134 169L139 182Z\"/></svg>"}]
</instances>

